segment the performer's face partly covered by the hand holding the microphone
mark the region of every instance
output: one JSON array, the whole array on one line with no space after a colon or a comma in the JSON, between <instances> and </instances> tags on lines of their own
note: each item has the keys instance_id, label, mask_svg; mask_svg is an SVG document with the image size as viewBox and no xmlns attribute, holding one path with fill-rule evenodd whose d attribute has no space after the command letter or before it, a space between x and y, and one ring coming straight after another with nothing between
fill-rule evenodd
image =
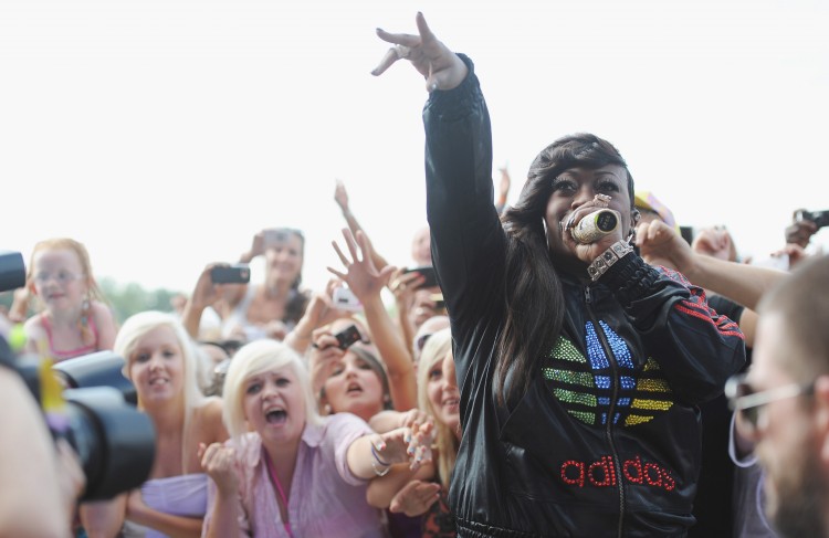
<instances>
[{"instance_id":1,"label":"performer's face partly covered by the hand holding the microphone","mask_svg":"<svg viewBox=\"0 0 829 538\"><path fill-rule=\"evenodd\" d=\"M573 259L562 238L570 214L583 204L594 200L596 194L610 197L609 208L621 214L622 238L627 238L633 225L628 192L628 173L618 165L601 168L571 168L553 180L553 193L547 200L547 236L549 247L556 257ZM597 208L598 209L598 208Z\"/></svg>"}]
</instances>

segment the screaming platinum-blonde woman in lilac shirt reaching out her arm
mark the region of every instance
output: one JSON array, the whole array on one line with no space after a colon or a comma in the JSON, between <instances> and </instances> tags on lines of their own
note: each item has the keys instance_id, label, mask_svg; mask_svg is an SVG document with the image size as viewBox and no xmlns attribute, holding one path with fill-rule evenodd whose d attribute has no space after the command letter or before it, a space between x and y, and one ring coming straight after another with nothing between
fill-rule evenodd
<instances>
[{"instance_id":1,"label":"screaming platinum-blonde woman in lilac shirt reaching out her arm","mask_svg":"<svg viewBox=\"0 0 829 538\"><path fill-rule=\"evenodd\" d=\"M419 452L403 442L409 429L380 435L350 413L321 418L303 359L271 339L237 352L223 393L232 440L203 452L202 536L385 536L366 486L409 461L407 447Z\"/></svg>"}]
</instances>

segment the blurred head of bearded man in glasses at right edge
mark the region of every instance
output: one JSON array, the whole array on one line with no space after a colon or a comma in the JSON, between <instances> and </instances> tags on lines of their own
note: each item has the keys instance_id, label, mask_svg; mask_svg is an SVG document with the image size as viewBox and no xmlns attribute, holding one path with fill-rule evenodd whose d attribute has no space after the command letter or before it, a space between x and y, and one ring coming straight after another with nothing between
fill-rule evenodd
<instances>
[{"instance_id":1,"label":"blurred head of bearded man in glasses at right edge","mask_svg":"<svg viewBox=\"0 0 829 538\"><path fill-rule=\"evenodd\" d=\"M781 279L758 313L754 363L726 386L737 433L754 444L776 529L829 537L829 255Z\"/></svg>"}]
</instances>

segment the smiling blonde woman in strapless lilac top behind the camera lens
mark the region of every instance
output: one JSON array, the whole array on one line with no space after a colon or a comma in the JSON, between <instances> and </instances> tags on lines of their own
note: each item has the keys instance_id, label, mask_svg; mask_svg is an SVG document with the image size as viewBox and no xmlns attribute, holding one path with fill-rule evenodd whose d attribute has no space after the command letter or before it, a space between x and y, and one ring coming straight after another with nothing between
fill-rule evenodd
<instances>
[{"instance_id":1,"label":"smiling blonde woman in strapless lilac top behind the camera lens","mask_svg":"<svg viewBox=\"0 0 829 538\"><path fill-rule=\"evenodd\" d=\"M156 457L149 479L113 502L82 507L88 536L200 536L207 511L208 477L201 445L228 439L219 398L206 398L197 379L197 350L177 317L144 312L118 331L115 352L135 384L138 409L156 429ZM126 520L126 521L125 521Z\"/></svg>"}]
</instances>

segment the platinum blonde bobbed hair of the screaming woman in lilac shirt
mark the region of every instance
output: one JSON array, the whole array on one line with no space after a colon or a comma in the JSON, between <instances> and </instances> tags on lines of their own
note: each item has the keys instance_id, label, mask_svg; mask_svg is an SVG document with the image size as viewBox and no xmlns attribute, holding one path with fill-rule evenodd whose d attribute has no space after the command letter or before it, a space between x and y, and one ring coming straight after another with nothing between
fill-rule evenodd
<instances>
[{"instance_id":1,"label":"platinum blonde bobbed hair of the screaming woman in lilac shirt","mask_svg":"<svg viewBox=\"0 0 829 538\"><path fill-rule=\"evenodd\" d=\"M224 388L222 389L224 410L222 411L222 419L224 420L224 428L228 429L231 437L239 439L248 432L244 409L242 407L245 382L253 376L285 366L293 370L303 391L305 422L313 425L318 425L323 422L316 409L316 399L311 390L311 381L305 362L291 346L270 338L263 338L239 348L239 351L235 352L233 359L230 361L230 367L224 378Z\"/></svg>"}]
</instances>

